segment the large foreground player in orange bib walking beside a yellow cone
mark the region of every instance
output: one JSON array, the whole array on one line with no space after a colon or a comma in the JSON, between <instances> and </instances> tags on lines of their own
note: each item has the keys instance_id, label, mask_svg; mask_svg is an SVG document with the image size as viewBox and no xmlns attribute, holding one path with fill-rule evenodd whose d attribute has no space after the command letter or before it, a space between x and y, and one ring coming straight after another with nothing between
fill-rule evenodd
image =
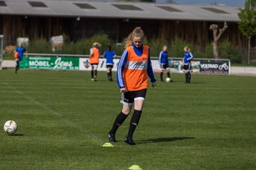
<instances>
[{"instance_id":1,"label":"large foreground player in orange bib walking beside a yellow cone","mask_svg":"<svg viewBox=\"0 0 256 170\"><path fill-rule=\"evenodd\" d=\"M120 88L122 111L114 120L112 130L107 134L110 142L115 142L115 134L120 125L127 118L134 103L134 113L132 115L129 130L125 142L135 145L132 139L135 128L139 123L142 108L148 87L148 76L151 79L151 86L156 86L151 60L149 57L149 47L142 45L144 33L142 28L134 28L125 40L124 52L117 66L117 84Z\"/></svg>"}]
</instances>

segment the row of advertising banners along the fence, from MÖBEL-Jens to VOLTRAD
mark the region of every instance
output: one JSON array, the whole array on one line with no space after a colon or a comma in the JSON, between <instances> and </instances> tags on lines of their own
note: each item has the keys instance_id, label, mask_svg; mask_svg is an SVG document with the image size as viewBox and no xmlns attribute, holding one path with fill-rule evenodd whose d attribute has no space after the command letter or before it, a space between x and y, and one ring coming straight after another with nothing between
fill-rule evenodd
<instances>
[{"instance_id":1,"label":"row of advertising banners along the fence, from M\u00d6BEL-Jens to VOLTRAD","mask_svg":"<svg viewBox=\"0 0 256 170\"><path fill-rule=\"evenodd\" d=\"M26 69L76 69L90 70L89 55L58 55L58 54L37 54L28 53L28 59L24 59L21 68ZM58 60L57 60L58 59ZM98 66L99 71L106 70L106 63L103 56L100 56ZM119 57L114 59L113 71L117 70ZM154 72L160 72L159 57L151 57ZM55 64L62 64L62 67L56 67ZM171 72L183 73L182 58L170 57L169 64ZM192 72L201 74L230 74L230 60L215 60L194 58L192 61Z\"/></svg>"}]
</instances>

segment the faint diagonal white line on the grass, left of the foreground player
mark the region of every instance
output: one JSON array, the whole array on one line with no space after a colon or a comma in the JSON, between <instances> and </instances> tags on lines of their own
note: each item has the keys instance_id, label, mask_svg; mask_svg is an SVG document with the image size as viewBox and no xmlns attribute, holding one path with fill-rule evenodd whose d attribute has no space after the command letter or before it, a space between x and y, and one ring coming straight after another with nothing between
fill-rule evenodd
<instances>
[{"instance_id":1,"label":"faint diagonal white line on the grass, left of the foreground player","mask_svg":"<svg viewBox=\"0 0 256 170\"><path fill-rule=\"evenodd\" d=\"M9 83L2 82L2 84L8 86L16 94L22 95L23 98L26 98L31 103L34 103L36 106L39 106L39 107L43 108L45 111L48 111L49 113L53 113L53 115L56 115L58 118L60 118L60 120L63 120L63 122L65 122L68 125L70 125L70 127L75 128L76 130L79 130L81 132L81 134L86 135L87 137L89 137L93 142L98 143L100 145L102 145L104 143L103 140L101 140L99 137L93 135L89 131L85 130L85 128L83 128L80 124L75 124L72 121L68 120L67 118L64 118L63 114L58 113L57 111L53 111L52 108L49 108L45 104L43 104L43 103L41 103L39 101L36 101L31 96L28 96L28 95L24 94L22 91L18 91L17 89L14 88L14 86L11 86Z\"/></svg>"}]
</instances>

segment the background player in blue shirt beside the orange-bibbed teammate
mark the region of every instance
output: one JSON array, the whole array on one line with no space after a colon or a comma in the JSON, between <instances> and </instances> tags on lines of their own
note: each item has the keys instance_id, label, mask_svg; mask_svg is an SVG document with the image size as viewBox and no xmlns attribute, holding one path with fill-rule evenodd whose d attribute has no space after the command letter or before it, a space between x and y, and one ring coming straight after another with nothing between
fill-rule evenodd
<instances>
[{"instance_id":1,"label":"background player in blue shirt beside the orange-bibbed teammate","mask_svg":"<svg viewBox=\"0 0 256 170\"><path fill-rule=\"evenodd\" d=\"M106 67L107 67L107 79L113 81L112 79L112 68L114 65L113 59L117 55L114 51L111 50L111 46L107 47L107 50L104 52L103 57L106 58Z\"/></svg>"}]
</instances>

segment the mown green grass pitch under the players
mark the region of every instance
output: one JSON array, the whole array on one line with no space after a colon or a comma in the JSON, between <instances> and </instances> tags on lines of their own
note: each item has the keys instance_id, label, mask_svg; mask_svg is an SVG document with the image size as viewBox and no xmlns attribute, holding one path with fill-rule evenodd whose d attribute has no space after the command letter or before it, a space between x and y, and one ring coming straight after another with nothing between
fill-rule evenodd
<instances>
[{"instance_id":1,"label":"mown green grass pitch under the players","mask_svg":"<svg viewBox=\"0 0 256 170\"><path fill-rule=\"evenodd\" d=\"M159 75L156 74L156 78ZM122 105L100 72L0 71L0 169L256 169L256 77L183 74L149 88L135 146L107 132Z\"/></svg>"}]
</instances>

